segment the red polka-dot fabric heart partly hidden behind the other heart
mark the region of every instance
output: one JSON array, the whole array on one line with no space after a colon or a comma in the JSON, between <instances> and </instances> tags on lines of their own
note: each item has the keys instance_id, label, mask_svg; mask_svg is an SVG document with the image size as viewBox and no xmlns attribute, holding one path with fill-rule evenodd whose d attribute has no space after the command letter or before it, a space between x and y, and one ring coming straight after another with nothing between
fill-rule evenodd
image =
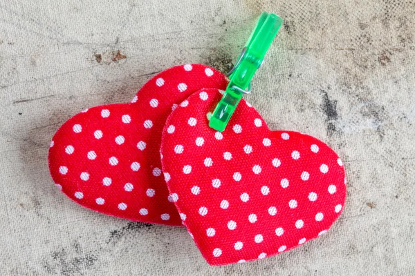
<instances>
[{"instance_id":1,"label":"red polka-dot fabric heart partly hidden behind the other heart","mask_svg":"<svg viewBox=\"0 0 415 276\"><path fill-rule=\"evenodd\" d=\"M132 103L96 106L57 130L49 168L77 204L100 213L181 226L161 172L160 141L169 113L201 88L224 89L225 76L201 64L160 72Z\"/></svg>"}]
</instances>

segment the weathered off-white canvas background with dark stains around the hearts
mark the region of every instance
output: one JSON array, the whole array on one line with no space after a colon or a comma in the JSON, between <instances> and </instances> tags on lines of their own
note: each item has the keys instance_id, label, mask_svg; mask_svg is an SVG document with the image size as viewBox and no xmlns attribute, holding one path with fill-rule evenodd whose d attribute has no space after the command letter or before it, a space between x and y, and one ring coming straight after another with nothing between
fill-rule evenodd
<instances>
[{"instance_id":1,"label":"weathered off-white canvas background with dark stains around the hearts","mask_svg":"<svg viewBox=\"0 0 415 276\"><path fill-rule=\"evenodd\" d=\"M263 10L285 23L246 99L344 159L347 205L327 235L210 267L185 229L55 188L48 146L66 119L174 65L227 71ZM0 274L415 275L414 14L413 0L0 0Z\"/></svg>"}]
</instances>

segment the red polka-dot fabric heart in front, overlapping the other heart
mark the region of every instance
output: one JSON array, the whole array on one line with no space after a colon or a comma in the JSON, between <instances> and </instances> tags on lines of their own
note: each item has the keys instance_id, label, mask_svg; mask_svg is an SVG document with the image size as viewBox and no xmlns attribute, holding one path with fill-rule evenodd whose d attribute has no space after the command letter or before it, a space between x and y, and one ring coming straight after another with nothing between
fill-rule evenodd
<instances>
[{"instance_id":1,"label":"red polka-dot fabric heart in front, overlapping the other heart","mask_svg":"<svg viewBox=\"0 0 415 276\"><path fill-rule=\"evenodd\" d=\"M214 89L186 99L161 145L170 196L203 257L211 265L262 259L325 233L346 197L338 155L308 135L270 131L243 100L216 132L208 117L219 99Z\"/></svg>"}]
</instances>

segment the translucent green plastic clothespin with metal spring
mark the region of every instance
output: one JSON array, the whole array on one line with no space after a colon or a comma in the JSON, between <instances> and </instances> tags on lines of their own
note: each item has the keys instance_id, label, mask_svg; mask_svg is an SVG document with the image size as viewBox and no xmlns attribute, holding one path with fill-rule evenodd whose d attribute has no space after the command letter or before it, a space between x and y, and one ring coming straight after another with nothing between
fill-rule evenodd
<instances>
[{"instance_id":1,"label":"translucent green plastic clothespin with metal spring","mask_svg":"<svg viewBox=\"0 0 415 276\"><path fill-rule=\"evenodd\" d=\"M268 48L283 20L275 14L263 12L243 48L239 60L230 71L230 81L221 101L214 109L209 126L218 131L223 131L230 120L242 95L250 93L250 82L257 69L262 65ZM248 88L248 90L246 90Z\"/></svg>"}]
</instances>

